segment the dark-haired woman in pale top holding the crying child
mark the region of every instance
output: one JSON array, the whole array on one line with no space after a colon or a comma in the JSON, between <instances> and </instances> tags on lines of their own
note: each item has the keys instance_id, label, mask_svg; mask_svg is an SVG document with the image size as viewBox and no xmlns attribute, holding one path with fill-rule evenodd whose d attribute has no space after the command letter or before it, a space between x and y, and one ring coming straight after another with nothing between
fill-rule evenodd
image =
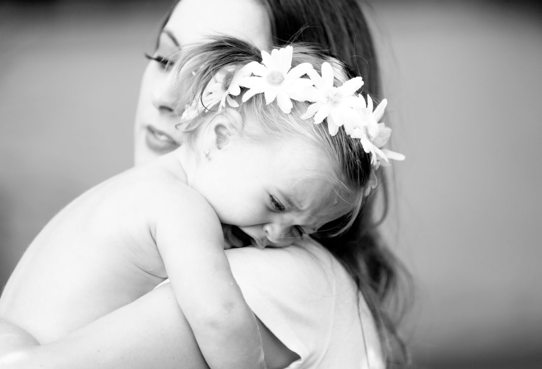
<instances>
[{"instance_id":1,"label":"dark-haired woman in pale top holding the crying child","mask_svg":"<svg viewBox=\"0 0 542 369\"><path fill-rule=\"evenodd\" d=\"M143 77L135 120L136 164L174 150L182 141L175 128L178 112L167 62L179 46L208 34L245 38L261 49L293 37L327 45L359 70L366 91L379 94L371 38L354 1L182 0L165 23ZM362 61L359 66L356 58ZM236 280L259 319L269 367L380 366L378 334L394 334L382 303L395 269L370 228L370 209L367 206L358 227L348 234L320 239L336 258L316 245L263 253L253 248L228 251ZM236 231L226 235L233 244L242 242ZM357 289L367 303L362 298L361 308L355 309L359 315L347 315L347 320L341 312L358 306ZM4 301L4 306L10 304L16 306ZM24 328L24 322L16 323ZM8 332L10 327L4 328ZM31 341L16 327L11 329L21 340ZM65 338L25 349L11 359L18 361L15 367L207 367L167 283Z\"/></svg>"}]
</instances>

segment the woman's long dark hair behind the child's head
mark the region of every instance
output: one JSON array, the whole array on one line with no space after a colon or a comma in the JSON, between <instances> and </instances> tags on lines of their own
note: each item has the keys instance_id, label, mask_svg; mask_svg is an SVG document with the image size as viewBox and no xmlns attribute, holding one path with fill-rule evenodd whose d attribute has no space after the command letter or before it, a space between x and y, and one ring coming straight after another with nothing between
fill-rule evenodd
<instances>
[{"instance_id":1,"label":"woman's long dark hair behind the child's head","mask_svg":"<svg viewBox=\"0 0 542 369\"><path fill-rule=\"evenodd\" d=\"M258 1L269 15L273 44L315 44L327 54L343 61L350 77L363 77L363 95L370 94L376 100L382 97L376 50L359 1ZM399 290L399 283L408 282L409 275L378 230L378 225L388 213L389 184L382 170L377 172L377 177L377 192L380 191L382 196L369 197L363 211L348 231L334 237L327 236L327 232L317 232L314 238L337 257L362 292L376 321L387 366L404 366L408 362L408 355L398 335L397 325L404 307L401 298L406 301L409 290ZM379 198L382 199L380 208L383 210L376 215L376 202ZM338 219L322 229L332 231L344 222L345 219ZM391 306L391 303L395 305ZM398 310L395 314L390 312L392 307Z\"/></svg>"}]
</instances>

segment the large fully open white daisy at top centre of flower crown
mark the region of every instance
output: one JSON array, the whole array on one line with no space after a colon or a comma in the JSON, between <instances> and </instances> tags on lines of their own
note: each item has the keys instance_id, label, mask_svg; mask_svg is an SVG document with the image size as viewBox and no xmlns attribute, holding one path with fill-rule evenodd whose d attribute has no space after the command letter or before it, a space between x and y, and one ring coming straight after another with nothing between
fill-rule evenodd
<instances>
[{"instance_id":1,"label":"large fully open white daisy at top centre of flower crown","mask_svg":"<svg viewBox=\"0 0 542 369\"><path fill-rule=\"evenodd\" d=\"M292 111L291 99L306 101L304 91L313 85L308 78L301 78L312 70L310 63L301 63L292 68L293 48L287 46L282 49L273 49L271 54L262 50L262 63L251 62L246 68L254 76L243 77L240 85L249 88L243 94L243 102L255 94L263 93L266 104L276 101L281 110L288 114Z\"/></svg>"}]
</instances>

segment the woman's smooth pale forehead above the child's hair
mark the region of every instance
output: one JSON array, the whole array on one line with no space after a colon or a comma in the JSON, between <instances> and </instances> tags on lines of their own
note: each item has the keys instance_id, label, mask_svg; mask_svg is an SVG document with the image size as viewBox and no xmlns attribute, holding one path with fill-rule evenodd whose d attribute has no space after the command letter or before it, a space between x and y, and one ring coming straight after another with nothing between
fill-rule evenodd
<instances>
[{"instance_id":1,"label":"woman's smooth pale forehead above the child's hair","mask_svg":"<svg viewBox=\"0 0 542 369\"><path fill-rule=\"evenodd\" d=\"M164 29L180 46L229 35L267 49L271 39L269 17L257 0L181 0Z\"/></svg>"}]
</instances>

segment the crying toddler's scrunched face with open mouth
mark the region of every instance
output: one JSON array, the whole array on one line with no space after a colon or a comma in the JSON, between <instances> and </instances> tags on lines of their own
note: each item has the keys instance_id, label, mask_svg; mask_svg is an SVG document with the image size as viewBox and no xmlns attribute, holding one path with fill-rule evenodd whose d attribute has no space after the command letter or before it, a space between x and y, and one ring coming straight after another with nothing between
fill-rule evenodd
<instances>
[{"instance_id":1,"label":"crying toddler's scrunched face with open mouth","mask_svg":"<svg viewBox=\"0 0 542 369\"><path fill-rule=\"evenodd\" d=\"M255 143L233 138L204 159L191 186L205 197L234 246L284 247L347 213L329 178L331 160L298 140Z\"/></svg>"}]
</instances>

